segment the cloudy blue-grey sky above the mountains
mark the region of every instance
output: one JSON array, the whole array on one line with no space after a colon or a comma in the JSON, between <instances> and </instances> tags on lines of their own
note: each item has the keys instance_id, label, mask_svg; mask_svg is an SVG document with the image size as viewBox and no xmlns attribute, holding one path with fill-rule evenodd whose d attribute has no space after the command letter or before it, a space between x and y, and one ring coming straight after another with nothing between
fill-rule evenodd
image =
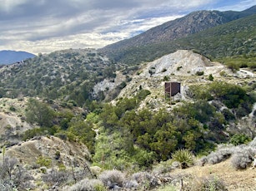
<instances>
[{"instance_id":1,"label":"cloudy blue-grey sky above the mountains","mask_svg":"<svg viewBox=\"0 0 256 191\"><path fill-rule=\"evenodd\" d=\"M0 0L0 50L100 48L190 12L253 5L255 0Z\"/></svg>"}]
</instances>

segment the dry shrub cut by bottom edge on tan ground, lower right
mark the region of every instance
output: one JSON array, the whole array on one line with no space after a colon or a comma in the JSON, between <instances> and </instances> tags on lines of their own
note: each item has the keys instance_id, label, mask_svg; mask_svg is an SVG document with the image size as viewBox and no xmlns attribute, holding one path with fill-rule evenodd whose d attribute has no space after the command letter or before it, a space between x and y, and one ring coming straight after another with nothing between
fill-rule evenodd
<instances>
[{"instance_id":1,"label":"dry shrub cut by bottom edge on tan ground, lower right","mask_svg":"<svg viewBox=\"0 0 256 191\"><path fill-rule=\"evenodd\" d=\"M192 181L189 182L188 188L185 188L185 190L189 191L198 191L198 190L209 190L209 191L222 191L227 190L225 188L225 184L223 183L222 179L219 179L216 176L210 176L207 178L198 178L198 179L192 179Z\"/></svg>"}]
</instances>

